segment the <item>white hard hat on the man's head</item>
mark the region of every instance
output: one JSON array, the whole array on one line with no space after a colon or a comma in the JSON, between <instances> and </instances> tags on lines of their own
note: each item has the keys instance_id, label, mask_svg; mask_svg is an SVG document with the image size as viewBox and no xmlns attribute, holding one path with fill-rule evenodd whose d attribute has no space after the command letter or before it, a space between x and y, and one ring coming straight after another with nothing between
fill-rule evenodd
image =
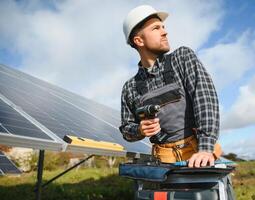
<instances>
[{"instance_id":1,"label":"white hard hat on the man's head","mask_svg":"<svg viewBox=\"0 0 255 200\"><path fill-rule=\"evenodd\" d=\"M168 17L168 13L156 11L153 7L149 5L138 6L128 13L123 23L123 32L125 34L126 42L128 44L130 44L129 36L133 28L151 15L157 15L162 21L164 21Z\"/></svg>"}]
</instances>

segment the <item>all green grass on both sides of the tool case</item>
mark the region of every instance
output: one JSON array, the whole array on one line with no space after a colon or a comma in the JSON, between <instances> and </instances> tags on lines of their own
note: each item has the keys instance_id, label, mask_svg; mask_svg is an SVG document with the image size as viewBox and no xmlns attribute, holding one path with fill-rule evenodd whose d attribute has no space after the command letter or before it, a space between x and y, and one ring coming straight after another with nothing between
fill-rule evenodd
<instances>
[{"instance_id":1,"label":"all green grass on both sides of the tool case","mask_svg":"<svg viewBox=\"0 0 255 200\"><path fill-rule=\"evenodd\" d=\"M61 173L63 169L44 171L43 181ZM0 177L0 199L35 199L36 172L20 177ZM238 200L255 200L255 162L238 163L233 176ZM133 182L118 176L116 168L73 170L43 189L43 200L131 200Z\"/></svg>"}]
</instances>

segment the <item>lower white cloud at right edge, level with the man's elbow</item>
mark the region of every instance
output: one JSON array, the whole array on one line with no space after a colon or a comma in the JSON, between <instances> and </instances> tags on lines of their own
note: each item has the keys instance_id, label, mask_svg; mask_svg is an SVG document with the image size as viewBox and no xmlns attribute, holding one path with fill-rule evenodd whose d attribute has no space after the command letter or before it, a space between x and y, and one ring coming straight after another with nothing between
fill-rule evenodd
<instances>
[{"instance_id":1,"label":"lower white cloud at right edge, level with the man's elbow","mask_svg":"<svg viewBox=\"0 0 255 200\"><path fill-rule=\"evenodd\" d=\"M255 76L239 89L239 97L222 116L222 129L241 128L255 124Z\"/></svg>"}]
</instances>

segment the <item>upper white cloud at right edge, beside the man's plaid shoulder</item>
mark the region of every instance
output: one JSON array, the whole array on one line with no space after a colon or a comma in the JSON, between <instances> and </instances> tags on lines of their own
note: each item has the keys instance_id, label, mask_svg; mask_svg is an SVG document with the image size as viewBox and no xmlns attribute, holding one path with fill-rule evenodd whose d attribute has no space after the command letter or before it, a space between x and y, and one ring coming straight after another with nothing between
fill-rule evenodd
<instances>
[{"instance_id":1,"label":"upper white cloud at right edge, beside the man's plaid shoulder","mask_svg":"<svg viewBox=\"0 0 255 200\"><path fill-rule=\"evenodd\" d=\"M221 90L243 77L255 63L254 34L247 30L232 43L220 43L199 52L199 57Z\"/></svg>"}]
</instances>

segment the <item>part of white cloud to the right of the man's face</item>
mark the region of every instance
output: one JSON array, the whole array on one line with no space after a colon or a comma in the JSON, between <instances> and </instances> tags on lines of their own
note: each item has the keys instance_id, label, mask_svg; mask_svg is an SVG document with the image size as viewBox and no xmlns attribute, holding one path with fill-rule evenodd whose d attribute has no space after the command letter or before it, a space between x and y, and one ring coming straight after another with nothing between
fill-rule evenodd
<instances>
[{"instance_id":1,"label":"part of white cloud to the right of the man's face","mask_svg":"<svg viewBox=\"0 0 255 200\"><path fill-rule=\"evenodd\" d=\"M189 46L194 50L220 28L224 15L221 1L171 1L168 3L169 39L173 49Z\"/></svg>"}]
</instances>

